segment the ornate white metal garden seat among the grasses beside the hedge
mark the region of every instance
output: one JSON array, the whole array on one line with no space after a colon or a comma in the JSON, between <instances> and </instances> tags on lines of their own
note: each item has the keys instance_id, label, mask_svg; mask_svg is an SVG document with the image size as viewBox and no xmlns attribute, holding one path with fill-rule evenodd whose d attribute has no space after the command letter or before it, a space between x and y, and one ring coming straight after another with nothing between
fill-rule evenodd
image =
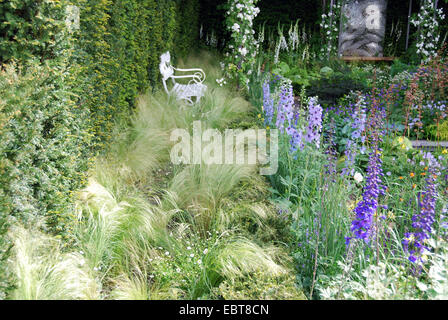
<instances>
[{"instance_id":1,"label":"ornate white metal garden seat among the grasses beside the hedge","mask_svg":"<svg viewBox=\"0 0 448 320\"><path fill-rule=\"evenodd\" d=\"M205 73L202 69L179 69L171 65L170 52L167 51L160 57L160 73L162 74L163 87L168 95L174 94L178 99L184 100L189 105L199 102L205 94L207 86L203 84ZM194 72L193 74L174 75L174 71ZM168 89L167 81L171 78L173 87ZM176 79L190 79L188 84L176 82ZM196 99L193 99L195 98Z\"/></svg>"}]
</instances>

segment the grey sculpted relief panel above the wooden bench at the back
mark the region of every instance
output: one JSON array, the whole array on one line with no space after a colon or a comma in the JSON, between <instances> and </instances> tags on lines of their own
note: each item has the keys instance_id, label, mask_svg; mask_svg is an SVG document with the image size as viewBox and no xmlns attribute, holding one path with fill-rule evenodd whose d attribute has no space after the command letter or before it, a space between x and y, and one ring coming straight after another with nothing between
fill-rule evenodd
<instances>
[{"instance_id":1,"label":"grey sculpted relief panel above the wooden bench at the back","mask_svg":"<svg viewBox=\"0 0 448 320\"><path fill-rule=\"evenodd\" d=\"M342 6L339 55L382 57L387 0L347 0Z\"/></svg>"}]
</instances>

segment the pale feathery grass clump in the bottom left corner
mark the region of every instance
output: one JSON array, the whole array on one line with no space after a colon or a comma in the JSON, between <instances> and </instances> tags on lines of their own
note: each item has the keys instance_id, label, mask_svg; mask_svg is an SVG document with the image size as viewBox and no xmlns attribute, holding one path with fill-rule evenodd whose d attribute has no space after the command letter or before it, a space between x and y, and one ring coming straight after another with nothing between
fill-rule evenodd
<instances>
[{"instance_id":1,"label":"pale feathery grass clump in the bottom left corner","mask_svg":"<svg viewBox=\"0 0 448 320\"><path fill-rule=\"evenodd\" d=\"M62 253L59 240L38 230L14 226L10 266L16 277L15 300L99 299L93 273L80 253Z\"/></svg>"}]
</instances>

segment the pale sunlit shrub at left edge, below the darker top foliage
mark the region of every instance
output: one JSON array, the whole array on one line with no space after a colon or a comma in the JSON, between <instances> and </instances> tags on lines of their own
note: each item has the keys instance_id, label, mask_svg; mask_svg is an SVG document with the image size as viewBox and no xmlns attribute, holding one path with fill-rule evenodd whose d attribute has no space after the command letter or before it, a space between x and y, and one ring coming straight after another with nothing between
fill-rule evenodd
<instances>
[{"instance_id":1,"label":"pale sunlit shrub at left edge, below the darker top foliage","mask_svg":"<svg viewBox=\"0 0 448 320\"><path fill-rule=\"evenodd\" d=\"M88 164L88 114L68 93L66 72L35 62L0 74L0 212L23 221L48 215L62 233Z\"/></svg>"}]
</instances>

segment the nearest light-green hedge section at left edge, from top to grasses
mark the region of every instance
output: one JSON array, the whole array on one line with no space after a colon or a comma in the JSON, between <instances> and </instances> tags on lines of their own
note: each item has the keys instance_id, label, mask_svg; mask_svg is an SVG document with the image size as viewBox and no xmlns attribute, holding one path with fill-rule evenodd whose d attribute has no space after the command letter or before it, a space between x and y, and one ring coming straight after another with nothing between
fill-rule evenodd
<instances>
[{"instance_id":1,"label":"nearest light-green hedge section at left edge, from top to grasses","mask_svg":"<svg viewBox=\"0 0 448 320\"><path fill-rule=\"evenodd\" d=\"M0 71L0 229L11 219L45 215L48 229L67 236L71 194L88 166L89 110L74 92L80 76L64 21L67 2L24 3L1 3L8 12L3 31L32 28L36 38L19 30L0 40L13 48L1 51L9 63Z\"/></svg>"}]
</instances>

